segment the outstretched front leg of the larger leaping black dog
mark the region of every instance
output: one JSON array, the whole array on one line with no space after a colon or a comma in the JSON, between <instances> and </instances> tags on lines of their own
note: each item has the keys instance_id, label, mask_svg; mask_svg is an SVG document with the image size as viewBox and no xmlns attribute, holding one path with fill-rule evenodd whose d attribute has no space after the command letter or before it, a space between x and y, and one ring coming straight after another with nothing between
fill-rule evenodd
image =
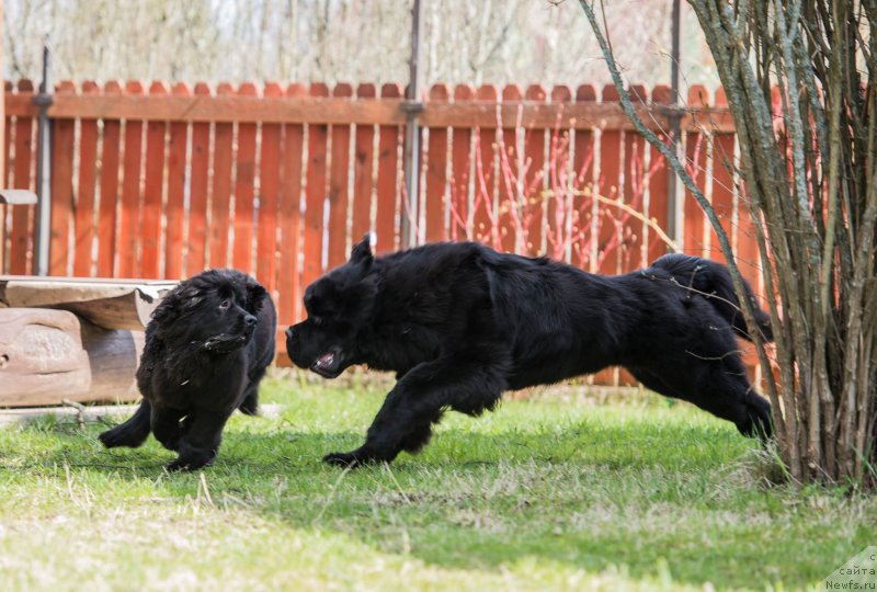
<instances>
[{"instance_id":1,"label":"outstretched front leg of the larger leaping black dog","mask_svg":"<svg viewBox=\"0 0 877 592\"><path fill-rule=\"evenodd\" d=\"M479 360L480 358L480 360ZM353 467L390 462L429 442L432 424L449 407L469 414L492 409L505 389L505 374L482 356L457 355L420 364L387 395L360 448L327 455L327 463Z\"/></svg>"}]
</instances>

